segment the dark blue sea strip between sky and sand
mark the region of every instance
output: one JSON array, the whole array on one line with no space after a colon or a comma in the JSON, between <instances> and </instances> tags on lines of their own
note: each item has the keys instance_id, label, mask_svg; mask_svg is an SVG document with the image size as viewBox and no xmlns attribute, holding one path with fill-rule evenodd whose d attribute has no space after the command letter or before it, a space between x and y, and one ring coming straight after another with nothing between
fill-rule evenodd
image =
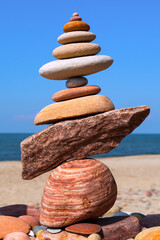
<instances>
[{"instance_id":1,"label":"dark blue sea strip between sky and sand","mask_svg":"<svg viewBox=\"0 0 160 240\"><path fill-rule=\"evenodd\" d=\"M1 133L0 161L21 160L20 143L33 133ZM143 154L160 154L160 134L130 134L110 151L94 155L97 158Z\"/></svg>"}]
</instances>

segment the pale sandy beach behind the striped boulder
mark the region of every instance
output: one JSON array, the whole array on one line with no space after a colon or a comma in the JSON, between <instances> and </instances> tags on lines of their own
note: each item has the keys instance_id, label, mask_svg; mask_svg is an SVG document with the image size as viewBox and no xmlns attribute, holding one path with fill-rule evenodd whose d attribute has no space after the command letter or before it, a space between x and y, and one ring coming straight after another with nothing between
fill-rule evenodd
<instances>
[{"instance_id":1,"label":"pale sandy beach behind the striped boulder","mask_svg":"<svg viewBox=\"0 0 160 240\"><path fill-rule=\"evenodd\" d=\"M123 211L144 214L160 212L160 155L98 159L105 163L117 182L116 205ZM50 174L22 180L20 161L0 162L0 206L40 205L44 184Z\"/></svg>"}]
</instances>

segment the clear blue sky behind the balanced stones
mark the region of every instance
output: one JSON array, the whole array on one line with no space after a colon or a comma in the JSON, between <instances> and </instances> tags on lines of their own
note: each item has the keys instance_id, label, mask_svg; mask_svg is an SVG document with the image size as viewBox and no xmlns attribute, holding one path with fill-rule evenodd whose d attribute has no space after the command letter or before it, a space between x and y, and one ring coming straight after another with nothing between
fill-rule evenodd
<instances>
[{"instance_id":1,"label":"clear blue sky behind the balanced stones","mask_svg":"<svg viewBox=\"0 0 160 240\"><path fill-rule=\"evenodd\" d=\"M99 54L113 65L87 76L116 108L148 105L150 116L135 133L160 133L160 1L1 0L0 132L38 132L34 116L52 103L65 81L42 78L38 70L55 60L57 37L74 12L96 34Z\"/></svg>"}]
</instances>

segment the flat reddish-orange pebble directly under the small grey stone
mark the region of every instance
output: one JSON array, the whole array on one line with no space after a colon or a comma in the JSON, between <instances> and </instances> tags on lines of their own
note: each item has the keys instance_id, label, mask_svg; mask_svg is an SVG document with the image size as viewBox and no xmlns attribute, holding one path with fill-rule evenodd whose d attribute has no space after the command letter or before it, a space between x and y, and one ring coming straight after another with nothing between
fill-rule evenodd
<instances>
[{"instance_id":1,"label":"flat reddish-orange pebble directly under the small grey stone","mask_svg":"<svg viewBox=\"0 0 160 240\"><path fill-rule=\"evenodd\" d=\"M56 92L52 96L52 100L55 102L60 102L60 101L69 100L73 98L94 95L99 93L100 91L101 89L98 86L85 86L85 87L63 89L59 92Z\"/></svg>"}]
</instances>

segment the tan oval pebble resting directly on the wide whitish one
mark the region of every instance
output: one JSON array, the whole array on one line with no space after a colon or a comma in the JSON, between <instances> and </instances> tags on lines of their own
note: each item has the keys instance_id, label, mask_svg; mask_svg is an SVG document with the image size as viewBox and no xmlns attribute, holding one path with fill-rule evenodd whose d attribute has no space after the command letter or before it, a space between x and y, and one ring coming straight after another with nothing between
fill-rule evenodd
<instances>
[{"instance_id":1,"label":"tan oval pebble resting directly on the wide whitish one","mask_svg":"<svg viewBox=\"0 0 160 240\"><path fill-rule=\"evenodd\" d=\"M96 55L101 50L96 43L70 43L53 50L52 55L58 59Z\"/></svg>"}]
</instances>

